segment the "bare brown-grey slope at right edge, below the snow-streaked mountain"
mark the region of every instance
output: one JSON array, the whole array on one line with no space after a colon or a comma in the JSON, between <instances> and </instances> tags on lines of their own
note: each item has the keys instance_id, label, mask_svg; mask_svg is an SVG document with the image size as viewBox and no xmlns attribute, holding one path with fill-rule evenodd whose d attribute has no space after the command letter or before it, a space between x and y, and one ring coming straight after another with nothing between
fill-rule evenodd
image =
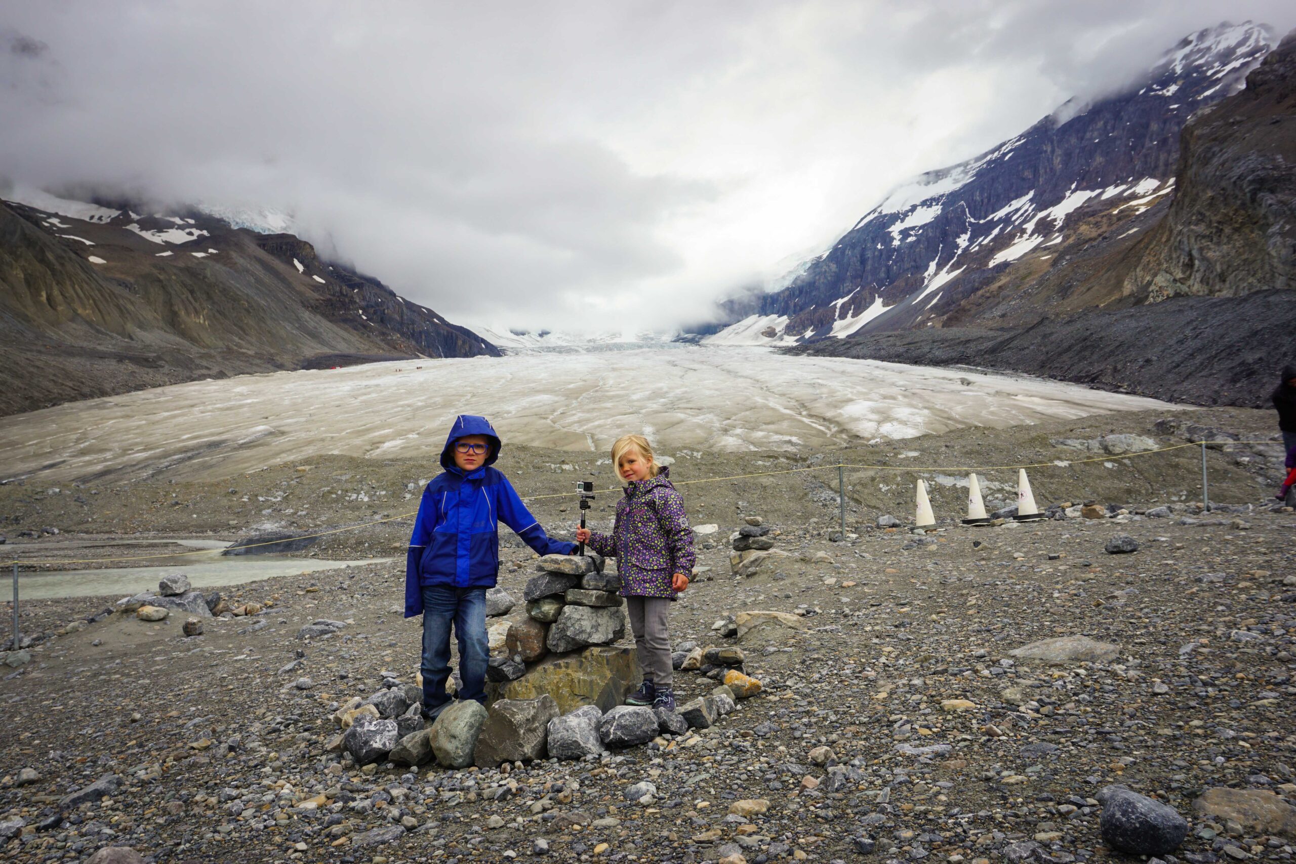
<instances>
[{"instance_id":1,"label":"bare brown-grey slope at right edge, below the snow-streaked mountain","mask_svg":"<svg viewBox=\"0 0 1296 864\"><path fill-rule=\"evenodd\" d=\"M1026 326L921 328L798 351L990 367L1196 404L1267 407L1296 333L1296 32L1247 88L1183 130L1173 203L1115 260L1056 281L1115 286L1105 310ZM1060 256L1059 256L1060 258Z\"/></svg>"}]
</instances>

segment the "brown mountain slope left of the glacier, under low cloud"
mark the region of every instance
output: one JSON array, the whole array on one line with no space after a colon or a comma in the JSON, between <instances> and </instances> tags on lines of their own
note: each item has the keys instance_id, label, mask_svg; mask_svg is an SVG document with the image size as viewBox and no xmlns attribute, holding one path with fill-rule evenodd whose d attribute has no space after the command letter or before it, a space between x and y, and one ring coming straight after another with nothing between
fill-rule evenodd
<instances>
[{"instance_id":1,"label":"brown mountain slope left of the glacier, under low cloud","mask_svg":"<svg viewBox=\"0 0 1296 864\"><path fill-rule=\"evenodd\" d=\"M19 192L0 202L0 415L246 372L498 355L292 234Z\"/></svg>"}]
</instances>

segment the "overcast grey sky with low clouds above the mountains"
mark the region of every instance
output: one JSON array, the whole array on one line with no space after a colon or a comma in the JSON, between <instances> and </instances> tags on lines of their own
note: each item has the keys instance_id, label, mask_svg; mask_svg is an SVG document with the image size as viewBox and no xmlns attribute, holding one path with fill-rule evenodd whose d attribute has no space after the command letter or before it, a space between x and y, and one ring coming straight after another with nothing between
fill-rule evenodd
<instances>
[{"instance_id":1,"label":"overcast grey sky with low clouds above the mountains","mask_svg":"<svg viewBox=\"0 0 1296 864\"><path fill-rule=\"evenodd\" d=\"M454 321L665 329L1287 0L0 0L0 176L270 206Z\"/></svg>"}]
</instances>

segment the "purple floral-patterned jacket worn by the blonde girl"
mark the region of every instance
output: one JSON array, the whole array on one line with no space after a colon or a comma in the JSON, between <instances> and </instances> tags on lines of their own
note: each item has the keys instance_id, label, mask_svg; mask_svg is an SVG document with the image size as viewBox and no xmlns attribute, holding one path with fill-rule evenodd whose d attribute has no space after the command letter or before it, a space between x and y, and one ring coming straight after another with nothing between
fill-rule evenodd
<instances>
[{"instance_id":1,"label":"purple floral-patterned jacket worn by the blonde girl","mask_svg":"<svg viewBox=\"0 0 1296 864\"><path fill-rule=\"evenodd\" d=\"M622 597L675 598L670 578L692 576L693 530L684 499L670 484L670 469L626 486L617 501L612 536L590 532L590 548L617 560Z\"/></svg>"}]
</instances>

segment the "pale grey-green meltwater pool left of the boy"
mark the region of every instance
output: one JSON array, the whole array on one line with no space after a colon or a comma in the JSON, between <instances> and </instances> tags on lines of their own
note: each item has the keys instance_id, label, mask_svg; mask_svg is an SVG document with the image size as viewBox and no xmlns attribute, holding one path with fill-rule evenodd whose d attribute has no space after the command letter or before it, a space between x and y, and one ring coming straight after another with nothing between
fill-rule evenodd
<instances>
[{"instance_id":1,"label":"pale grey-green meltwater pool left of the boy","mask_svg":"<svg viewBox=\"0 0 1296 864\"><path fill-rule=\"evenodd\" d=\"M205 541L184 541L205 543ZM201 553L194 553L201 554ZM341 570L365 563L388 563L395 558L362 558L359 561L323 561L316 558L219 558L210 563L185 563L166 567L111 567L105 570L64 570L21 575L18 582L22 600L48 600L52 597L92 597L97 595L137 595L157 591L158 579L175 573L189 576L194 588L211 585L238 585L273 576L295 576L324 570Z\"/></svg>"}]
</instances>

